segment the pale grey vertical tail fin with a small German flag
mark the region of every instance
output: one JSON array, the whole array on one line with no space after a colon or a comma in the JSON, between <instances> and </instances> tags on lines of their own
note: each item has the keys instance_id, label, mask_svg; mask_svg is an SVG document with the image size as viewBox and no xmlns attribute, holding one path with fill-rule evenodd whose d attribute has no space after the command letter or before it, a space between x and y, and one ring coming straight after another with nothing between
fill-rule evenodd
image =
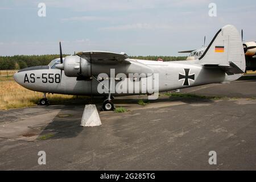
<instances>
[{"instance_id":1,"label":"pale grey vertical tail fin with a small German flag","mask_svg":"<svg viewBox=\"0 0 256 182\"><path fill-rule=\"evenodd\" d=\"M232 25L221 28L199 58L199 63L220 67L228 75L245 72L245 53L237 28Z\"/></svg>"}]
</instances>

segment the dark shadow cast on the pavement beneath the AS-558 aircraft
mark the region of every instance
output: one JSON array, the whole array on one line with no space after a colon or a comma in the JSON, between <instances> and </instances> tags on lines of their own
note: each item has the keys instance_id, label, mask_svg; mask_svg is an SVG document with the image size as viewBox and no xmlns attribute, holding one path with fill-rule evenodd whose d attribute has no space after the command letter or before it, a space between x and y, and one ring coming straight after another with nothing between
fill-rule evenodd
<instances>
[{"instance_id":1,"label":"dark shadow cast on the pavement beneath the AS-558 aircraft","mask_svg":"<svg viewBox=\"0 0 256 182\"><path fill-rule=\"evenodd\" d=\"M158 100L150 100L150 104L159 103L159 102L176 102L182 101L187 104L209 104L214 102L210 99L200 98L200 97L193 97L193 98L182 98L182 97L174 97L174 98L159 98ZM115 99L114 104L121 105L122 104L137 104L138 99L134 98L126 98L126 99ZM47 109L60 109L59 113L56 115L55 118L52 119L52 122L48 123L46 127L42 130L39 137L37 139L44 140L44 139L63 139L63 138L74 138L77 137L83 130L86 133L90 132L86 130L87 127L81 127L81 118L82 113L84 111L85 104L96 104L96 107L100 113L101 111L101 98L95 98L93 102L90 99L86 100L78 100L75 102L67 103L62 106L48 106ZM138 105L139 106L139 105ZM94 130L94 129L92 129ZM98 129L97 129L98 130Z\"/></svg>"}]
</instances>

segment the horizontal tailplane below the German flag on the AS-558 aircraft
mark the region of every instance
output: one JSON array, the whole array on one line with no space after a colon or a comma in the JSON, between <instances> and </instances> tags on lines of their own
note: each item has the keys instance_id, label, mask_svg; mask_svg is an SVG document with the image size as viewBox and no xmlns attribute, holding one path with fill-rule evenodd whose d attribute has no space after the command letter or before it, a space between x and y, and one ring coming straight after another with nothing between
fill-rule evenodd
<instances>
[{"instance_id":1,"label":"horizontal tailplane below the German flag on the AS-558 aircraft","mask_svg":"<svg viewBox=\"0 0 256 182\"><path fill-rule=\"evenodd\" d=\"M219 69L222 69L228 75L245 73L233 61L229 61L229 64L227 64L227 65L211 64L211 63L201 64L201 65L205 68L219 68Z\"/></svg>"}]
</instances>

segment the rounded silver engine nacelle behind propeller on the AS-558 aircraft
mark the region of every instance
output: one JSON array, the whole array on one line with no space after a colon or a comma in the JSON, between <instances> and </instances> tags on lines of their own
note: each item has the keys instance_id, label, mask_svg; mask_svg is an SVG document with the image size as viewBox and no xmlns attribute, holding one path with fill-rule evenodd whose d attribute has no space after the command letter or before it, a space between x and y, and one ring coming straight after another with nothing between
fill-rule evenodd
<instances>
[{"instance_id":1,"label":"rounded silver engine nacelle behind propeller on the AS-558 aircraft","mask_svg":"<svg viewBox=\"0 0 256 182\"><path fill-rule=\"evenodd\" d=\"M81 63L80 63L81 61ZM81 68L80 68L81 65ZM79 56L67 56L64 61L64 73L68 77L91 77L90 63Z\"/></svg>"}]
</instances>

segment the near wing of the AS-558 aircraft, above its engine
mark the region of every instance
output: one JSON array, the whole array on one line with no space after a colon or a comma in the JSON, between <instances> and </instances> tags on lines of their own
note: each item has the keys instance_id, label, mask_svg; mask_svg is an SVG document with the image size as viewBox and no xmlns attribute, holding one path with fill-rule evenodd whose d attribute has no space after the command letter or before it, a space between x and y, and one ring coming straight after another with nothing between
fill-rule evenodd
<instances>
[{"instance_id":1,"label":"near wing of the AS-558 aircraft, above its engine","mask_svg":"<svg viewBox=\"0 0 256 182\"><path fill-rule=\"evenodd\" d=\"M114 52L105 52L105 51L87 51L87 52L78 52L77 56L82 57L87 61L92 61L93 63L127 63L130 64L130 61L126 59L129 58L126 53L114 53Z\"/></svg>"}]
</instances>

